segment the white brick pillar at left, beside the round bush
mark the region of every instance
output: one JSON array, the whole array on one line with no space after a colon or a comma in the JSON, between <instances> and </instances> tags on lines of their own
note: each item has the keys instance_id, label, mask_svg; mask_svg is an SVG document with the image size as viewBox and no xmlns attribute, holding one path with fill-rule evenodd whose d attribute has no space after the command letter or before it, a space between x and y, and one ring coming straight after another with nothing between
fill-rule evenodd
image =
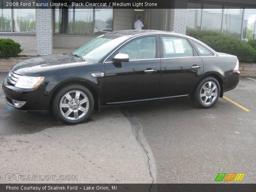
<instances>
[{"instance_id":1,"label":"white brick pillar at left, beside the round bush","mask_svg":"<svg viewBox=\"0 0 256 192\"><path fill-rule=\"evenodd\" d=\"M36 9L37 54L52 54L53 47L53 14L52 9Z\"/></svg>"}]
</instances>

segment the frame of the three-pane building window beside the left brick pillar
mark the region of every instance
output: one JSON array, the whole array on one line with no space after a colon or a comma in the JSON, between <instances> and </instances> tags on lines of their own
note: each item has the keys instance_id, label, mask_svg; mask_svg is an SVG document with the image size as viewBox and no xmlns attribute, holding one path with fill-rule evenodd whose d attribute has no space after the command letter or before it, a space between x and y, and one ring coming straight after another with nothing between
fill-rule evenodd
<instances>
[{"instance_id":1,"label":"frame of the three-pane building window beside the left brick pillar","mask_svg":"<svg viewBox=\"0 0 256 192\"><path fill-rule=\"evenodd\" d=\"M61 7L61 6L60 6ZM58 8L58 9L61 9L61 8ZM66 35L101 35L101 34L94 34L94 28L95 28L95 9L98 9L97 8L97 6L92 6L93 7L93 20L92 20L92 33L90 34L80 34L80 33L74 33L74 28L75 28L75 8L76 8L76 6L73 6L73 8L72 8L72 12L73 12L73 19L72 19L72 33L56 33L55 32L55 10L56 10L56 8L54 7L54 11L53 11L53 22L54 22L54 24L53 24L53 28L54 28L54 33L53 34L66 34ZM80 7L81 8L81 7ZM112 8L111 9L112 10L112 16L113 16L113 18L112 18L112 32L113 32L113 29L114 29L114 8ZM106 33L108 33L108 32L106 32ZM103 34L105 34L105 33L103 33Z\"/></svg>"}]
</instances>

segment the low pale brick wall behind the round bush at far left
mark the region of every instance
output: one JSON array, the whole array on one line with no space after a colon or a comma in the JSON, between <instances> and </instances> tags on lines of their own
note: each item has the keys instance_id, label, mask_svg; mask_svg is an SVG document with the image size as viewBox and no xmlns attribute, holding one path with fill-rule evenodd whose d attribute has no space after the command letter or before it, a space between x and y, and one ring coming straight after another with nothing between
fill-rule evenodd
<instances>
[{"instance_id":1,"label":"low pale brick wall behind the round bush at far left","mask_svg":"<svg viewBox=\"0 0 256 192\"><path fill-rule=\"evenodd\" d=\"M0 39L12 39L15 42L19 43L21 45L21 48L24 51L27 50L37 50L36 46L36 35L32 36L25 36L25 35L19 35L19 36L14 36L14 35L0 35Z\"/></svg>"}]
</instances>

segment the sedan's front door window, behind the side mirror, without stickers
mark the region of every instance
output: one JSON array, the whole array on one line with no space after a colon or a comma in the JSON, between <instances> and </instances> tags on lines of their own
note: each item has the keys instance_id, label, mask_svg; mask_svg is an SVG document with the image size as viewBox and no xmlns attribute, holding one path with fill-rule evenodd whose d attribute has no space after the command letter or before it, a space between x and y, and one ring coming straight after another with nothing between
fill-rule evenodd
<instances>
[{"instance_id":1,"label":"sedan's front door window, behind the side mirror, without stickers","mask_svg":"<svg viewBox=\"0 0 256 192\"><path fill-rule=\"evenodd\" d=\"M118 53L129 55L129 60L156 58L156 37L143 37L124 45Z\"/></svg>"}]
</instances>

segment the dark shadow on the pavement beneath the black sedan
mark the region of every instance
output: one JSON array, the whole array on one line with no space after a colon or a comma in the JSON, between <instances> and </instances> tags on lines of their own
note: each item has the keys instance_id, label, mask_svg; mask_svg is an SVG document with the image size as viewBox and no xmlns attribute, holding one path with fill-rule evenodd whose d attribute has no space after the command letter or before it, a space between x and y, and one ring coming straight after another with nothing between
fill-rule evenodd
<instances>
[{"instance_id":1,"label":"dark shadow on the pavement beneath the black sedan","mask_svg":"<svg viewBox=\"0 0 256 192\"><path fill-rule=\"evenodd\" d=\"M92 116L81 124L86 124L100 118L100 116L106 116L115 110L124 112L128 110L131 112L147 113L152 116L159 112L181 111L187 112L189 110L195 110L196 106L188 98L175 99L175 100L163 100L158 102L143 102L137 104L129 104L123 106L109 106L102 108L100 114L94 110ZM2 110L2 109L1 109ZM53 127L66 127L67 125L58 121L52 113L39 114L33 112L24 113L14 108L6 108L5 112L0 110L0 134L33 134L35 132L41 132L47 128ZM68 125L76 126L76 125Z\"/></svg>"}]
</instances>

